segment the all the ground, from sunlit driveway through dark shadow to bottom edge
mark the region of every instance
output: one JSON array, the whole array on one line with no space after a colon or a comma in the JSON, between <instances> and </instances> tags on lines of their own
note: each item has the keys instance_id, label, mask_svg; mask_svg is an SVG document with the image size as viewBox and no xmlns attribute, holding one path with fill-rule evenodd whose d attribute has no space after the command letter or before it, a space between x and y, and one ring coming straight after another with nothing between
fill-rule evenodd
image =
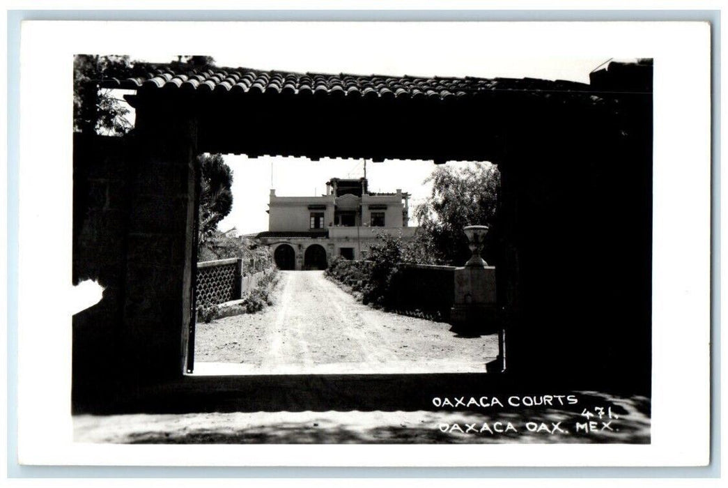
<instances>
[{"instance_id":1,"label":"all the ground, from sunlit driveway through dark shadow to bottom edge","mask_svg":"<svg viewBox=\"0 0 728 488\"><path fill-rule=\"evenodd\" d=\"M577 385L539 375L538 363L521 377L486 372L495 336L463 337L447 323L374 310L322 272L282 272L274 299L261 313L198 324L194 374L95 390L93 402L75 406L75 440L650 441L649 386L630 377Z\"/></svg>"}]
</instances>

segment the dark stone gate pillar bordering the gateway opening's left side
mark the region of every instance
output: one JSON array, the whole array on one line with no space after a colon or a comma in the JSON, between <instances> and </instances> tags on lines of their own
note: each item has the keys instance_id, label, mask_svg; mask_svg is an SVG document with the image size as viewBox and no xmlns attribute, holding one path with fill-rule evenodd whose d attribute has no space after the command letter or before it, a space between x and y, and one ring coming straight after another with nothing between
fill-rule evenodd
<instances>
[{"instance_id":1,"label":"dark stone gate pillar bordering the gateway opening's left side","mask_svg":"<svg viewBox=\"0 0 728 488\"><path fill-rule=\"evenodd\" d=\"M197 261L197 123L179 104L149 104L134 134L124 297L125 369L141 383L186 369Z\"/></svg>"}]
</instances>

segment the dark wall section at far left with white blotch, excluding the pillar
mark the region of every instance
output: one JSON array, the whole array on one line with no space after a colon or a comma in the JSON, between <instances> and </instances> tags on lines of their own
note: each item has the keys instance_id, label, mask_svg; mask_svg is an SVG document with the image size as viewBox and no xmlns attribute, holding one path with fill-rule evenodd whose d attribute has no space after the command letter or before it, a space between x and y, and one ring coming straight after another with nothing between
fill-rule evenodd
<instances>
[{"instance_id":1,"label":"dark wall section at far left with white blotch, excluding the pillar","mask_svg":"<svg viewBox=\"0 0 728 488\"><path fill-rule=\"evenodd\" d=\"M120 138L74 138L73 282L96 280L103 299L73 318L74 389L116 377L124 363L130 168Z\"/></svg>"}]
</instances>

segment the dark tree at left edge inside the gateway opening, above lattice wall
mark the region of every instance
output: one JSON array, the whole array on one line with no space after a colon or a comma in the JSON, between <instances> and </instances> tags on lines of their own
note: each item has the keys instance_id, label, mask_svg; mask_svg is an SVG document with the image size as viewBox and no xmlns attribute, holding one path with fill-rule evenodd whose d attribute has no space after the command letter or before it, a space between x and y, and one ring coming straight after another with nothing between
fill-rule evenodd
<instances>
[{"instance_id":1,"label":"dark tree at left edge inside the gateway opening, above lattice wall","mask_svg":"<svg viewBox=\"0 0 728 488\"><path fill-rule=\"evenodd\" d=\"M198 162L201 187L197 243L201 247L232 210L232 170L220 154L202 154Z\"/></svg>"}]
</instances>

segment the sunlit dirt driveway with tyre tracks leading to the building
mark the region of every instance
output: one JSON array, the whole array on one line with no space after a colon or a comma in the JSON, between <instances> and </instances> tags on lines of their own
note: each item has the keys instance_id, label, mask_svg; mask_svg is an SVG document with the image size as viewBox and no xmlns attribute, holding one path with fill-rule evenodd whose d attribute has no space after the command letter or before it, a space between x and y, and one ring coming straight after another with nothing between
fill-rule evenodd
<instances>
[{"instance_id":1,"label":"sunlit dirt driveway with tyre tracks leading to the building","mask_svg":"<svg viewBox=\"0 0 728 488\"><path fill-rule=\"evenodd\" d=\"M195 372L470 372L485 371L498 352L495 336L459 337L447 323L365 306L323 271L280 272L274 302L199 323Z\"/></svg>"}]
</instances>

